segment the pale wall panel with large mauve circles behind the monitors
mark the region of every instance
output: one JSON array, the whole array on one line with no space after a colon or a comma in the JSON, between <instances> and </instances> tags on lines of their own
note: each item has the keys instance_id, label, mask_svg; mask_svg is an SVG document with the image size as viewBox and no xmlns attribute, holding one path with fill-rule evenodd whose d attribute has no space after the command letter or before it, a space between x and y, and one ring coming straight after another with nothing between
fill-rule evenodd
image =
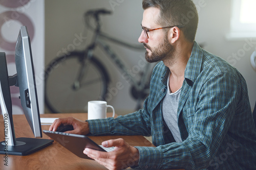
<instances>
[{"instance_id":1,"label":"pale wall panel with large mauve circles behind the monitors","mask_svg":"<svg viewBox=\"0 0 256 170\"><path fill-rule=\"evenodd\" d=\"M0 2L0 51L6 53L9 76L16 74L14 50L21 26L27 26L31 40L32 56L37 85L40 113L44 113L44 1ZM23 114L19 89L11 88L13 114Z\"/></svg>"}]
</instances>

